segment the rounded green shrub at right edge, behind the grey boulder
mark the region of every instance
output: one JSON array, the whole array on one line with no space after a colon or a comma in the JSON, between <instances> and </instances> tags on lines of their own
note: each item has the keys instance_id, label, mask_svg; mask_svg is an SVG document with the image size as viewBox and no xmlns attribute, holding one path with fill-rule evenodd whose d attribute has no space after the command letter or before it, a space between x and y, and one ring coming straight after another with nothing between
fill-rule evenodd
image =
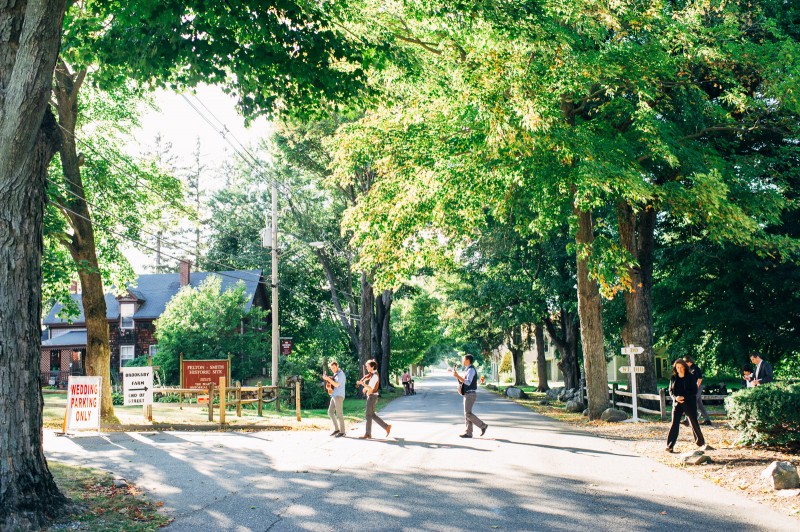
<instances>
[{"instance_id":1,"label":"rounded green shrub at right edge, behind the grey boulder","mask_svg":"<svg viewBox=\"0 0 800 532\"><path fill-rule=\"evenodd\" d=\"M725 408L741 443L800 445L800 384L746 388L725 399Z\"/></svg>"}]
</instances>

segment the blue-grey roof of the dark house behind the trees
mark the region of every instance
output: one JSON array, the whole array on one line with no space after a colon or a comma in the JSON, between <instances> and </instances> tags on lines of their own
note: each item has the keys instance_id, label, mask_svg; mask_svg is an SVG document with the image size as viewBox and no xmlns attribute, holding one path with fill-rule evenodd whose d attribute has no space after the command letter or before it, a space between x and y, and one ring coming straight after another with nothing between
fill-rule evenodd
<instances>
[{"instance_id":1,"label":"blue-grey roof of the dark house behind the trees","mask_svg":"<svg viewBox=\"0 0 800 532\"><path fill-rule=\"evenodd\" d=\"M242 282L244 284L245 295L247 296L245 310L250 310L256 295L258 282L261 280L261 270L192 272L190 284L193 288L197 288L203 281L211 276L218 276L222 280L223 292L234 288L237 283ZM180 274L178 273L149 273L138 276L136 282L128 288L131 294L142 301L139 309L133 315L133 319L154 320L159 318L161 314L164 313L164 309L167 307L169 300L180 291L180 288ZM71 322L57 317L58 313L61 312L63 308L63 305L57 303L47 314L42 323L45 326L85 323L86 319L83 315L81 294L73 294L72 298L78 304L80 314L74 317ZM119 301L117 301L117 298L114 294L106 294L105 299L106 318L109 320L119 319ZM85 343L86 341L84 339L84 344Z\"/></svg>"}]
</instances>

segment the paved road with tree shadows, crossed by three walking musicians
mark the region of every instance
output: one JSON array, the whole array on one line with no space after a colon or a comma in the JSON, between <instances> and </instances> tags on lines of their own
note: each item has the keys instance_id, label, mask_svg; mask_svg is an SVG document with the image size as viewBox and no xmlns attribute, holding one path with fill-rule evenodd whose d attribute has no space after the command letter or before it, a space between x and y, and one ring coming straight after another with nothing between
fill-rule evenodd
<instances>
[{"instance_id":1,"label":"paved road with tree shadows, crossed by three walking musicians","mask_svg":"<svg viewBox=\"0 0 800 532\"><path fill-rule=\"evenodd\" d=\"M461 439L452 377L381 415L392 437L328 432L45 437L52 460L114 471L170 530L792 530L800 521L480 392ZM376 428L376 436L383 431Z\"/></svg>"}]
</instances>

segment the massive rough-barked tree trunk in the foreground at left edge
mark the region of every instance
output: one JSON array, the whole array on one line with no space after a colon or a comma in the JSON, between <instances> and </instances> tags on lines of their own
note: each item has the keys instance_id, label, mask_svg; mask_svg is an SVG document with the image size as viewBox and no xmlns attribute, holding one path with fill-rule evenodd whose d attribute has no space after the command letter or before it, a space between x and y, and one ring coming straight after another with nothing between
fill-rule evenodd
<instances>
[{"instance_id":1,"label":"massive rough-barked tree trunk in the foreground at left edge","mask_svg":"<svg viewBox=\"0 0 800 532\"><path fill-rule=\"evenodd\" d=\"M47 109L64 2L0 4L0 529L59 514L42 450L42 228L61 134Z\"/></svg>"}]
</instances>

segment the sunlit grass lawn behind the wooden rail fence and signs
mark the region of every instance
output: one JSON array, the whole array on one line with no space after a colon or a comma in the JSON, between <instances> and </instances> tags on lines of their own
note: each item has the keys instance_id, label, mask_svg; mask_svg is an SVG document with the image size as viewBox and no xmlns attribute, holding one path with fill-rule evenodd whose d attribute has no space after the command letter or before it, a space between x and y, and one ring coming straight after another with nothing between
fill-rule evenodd
<instances>
[{"instance_id":1,"label":"sunlit grass lawn behind the wooden rail fence and signs","mask_svg":"<svg viewBox=\"0 0 800 532\"><path fill-rule=\"evenodd\" d=\"M388 402L403 395L402 388L394 391L381 391L378 410ZM66 393L46 393L44 395L45 428L60 430L67 406ZM364 420L365 402L358 398L344 400L345 420L348 424ZM204 405L190 403L153 403L153 423L145 421L141 406L115 406L114 413L119 423L103 423L103 431L119 430L216 430L219 429L219 410L214 411L214 421L208 421L208 409ZM302 409L301 421L297 421L294 405L281 404L281 411L275 412L275 404L264 405L263 417L258 416L255 405L243 405L242 417L236 416L235 407L229 406L225 421L228 429L242 430L320 430L330 425L328 409Z\"/></svg>"}]
</instances>

